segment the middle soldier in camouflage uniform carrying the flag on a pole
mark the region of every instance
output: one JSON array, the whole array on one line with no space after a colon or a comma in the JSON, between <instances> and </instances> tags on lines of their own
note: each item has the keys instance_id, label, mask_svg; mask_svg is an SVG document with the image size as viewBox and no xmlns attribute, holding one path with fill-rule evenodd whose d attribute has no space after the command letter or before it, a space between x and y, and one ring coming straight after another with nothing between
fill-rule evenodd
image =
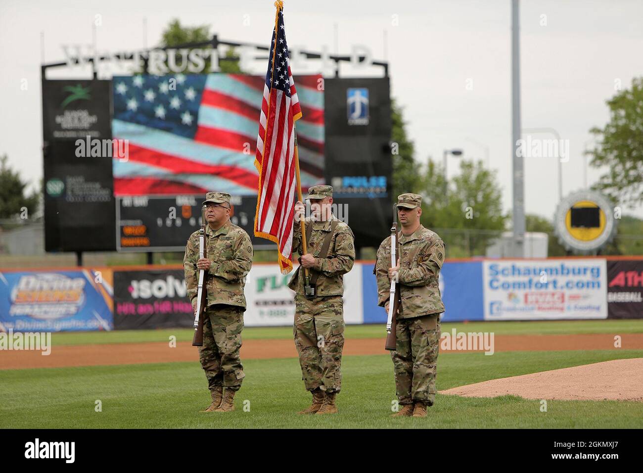
<instances>
[{"instance_id":1,"label":"middle soldier in camouflage uniform carrying the flag on a pole","mask_svg":"<svg viewBox=\"0 0 643 473\"><path fill-rule=\"evenodd\" d=\"M305 227L312 226L306 242L308 254L300 257L301 265L288 284L296 292L294 344L302 366L303 384L312 393L312 405L300 414L334 414L337 412L335 398L341 388L344 346L343 275L350 271L355 261L354 237L349 226L331 213L331 186L311 187L307 199L311 201L311 218L305 219ZM303 248L299 222L304 211L305 206L298 201L293 224L293 252L300 255ZM320 257L323 242L334 225L328 252ZM302 266L308 268L311 276L315 272L318 274L314 297L305 296Z\"/></svg>"}]
</instances>

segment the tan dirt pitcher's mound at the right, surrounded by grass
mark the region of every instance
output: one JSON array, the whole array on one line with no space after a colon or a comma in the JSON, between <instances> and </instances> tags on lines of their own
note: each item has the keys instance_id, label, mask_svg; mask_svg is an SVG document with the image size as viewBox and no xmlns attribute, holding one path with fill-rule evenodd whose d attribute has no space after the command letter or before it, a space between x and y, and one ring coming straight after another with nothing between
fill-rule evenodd
<instances>
[{"instance_id":1,"label":"tan dirt pitcher's mound at the right, surrounded by grass","mask_svg":"<svg viewBox=\"0 0 643 473\"><path fill-rule=\"evenodd\" d=\"M440 394L494 398L643 401L643 358L541 371L453 387Z\"/></svg>"}]
</instances>

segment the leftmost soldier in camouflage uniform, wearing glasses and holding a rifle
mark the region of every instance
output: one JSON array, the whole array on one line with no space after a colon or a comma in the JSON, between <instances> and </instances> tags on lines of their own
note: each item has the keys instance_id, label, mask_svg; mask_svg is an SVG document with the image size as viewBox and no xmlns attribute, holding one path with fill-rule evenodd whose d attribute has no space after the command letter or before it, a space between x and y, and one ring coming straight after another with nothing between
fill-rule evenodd
<instances>
[{"instance_id":1,"label":"leftmost soldier in camouflage uniform, wearing glasses and holding a rifle","mask_svg":"<svg viewBox=\"0 0 643 473\"><path fill-rule=\"evenodd\" d=\"M248 234L230 221L230 194L208 192L203 205L208 222L206 258L199 259L199 232L194 232L185 247L183 268L194 309L199 270L206 270L207 303L199 361L208 379L212 404L201 412L226 412L234 410L234 396L245 376L239 349L246 310L243 290L253 250Z\"/></svg>"}]
</instances>

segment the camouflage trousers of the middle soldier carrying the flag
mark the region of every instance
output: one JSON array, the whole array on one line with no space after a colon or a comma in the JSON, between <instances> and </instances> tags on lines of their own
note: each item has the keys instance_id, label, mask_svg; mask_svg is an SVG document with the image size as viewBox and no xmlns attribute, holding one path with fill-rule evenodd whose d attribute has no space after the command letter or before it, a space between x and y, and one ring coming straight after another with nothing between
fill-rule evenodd
<instances>
[{"instance_id":1,"label":"camouflage trousers of the middle soldier carrying the flag","mask_svg":"<svg viewBox=\"0 0 643 473\"><path fill-rule=\"evenodd\" d=\"M341 351L344 348L344 305L341 295L306 299L295 295L294 345L308 391L341 389Z\"/></svg>"}]
</instances>

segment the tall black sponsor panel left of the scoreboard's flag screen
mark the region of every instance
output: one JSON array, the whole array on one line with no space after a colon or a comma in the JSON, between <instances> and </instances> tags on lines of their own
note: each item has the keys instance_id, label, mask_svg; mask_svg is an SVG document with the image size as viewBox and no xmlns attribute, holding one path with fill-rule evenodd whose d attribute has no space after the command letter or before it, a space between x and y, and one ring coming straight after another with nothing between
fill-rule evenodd
<instances>
[{"instance_id":1,"label":"tall black sponsor panel left of the scoreboard's flag screen","mask_svg":"<svg viewBox=\"0 0 643 473\"><path fill-rule=\"evenodd\" d=\"M109 80L42 82L45 250L113 251ZM120 151L119 151L120 150Z\"/></svg>"}]
</instances>

